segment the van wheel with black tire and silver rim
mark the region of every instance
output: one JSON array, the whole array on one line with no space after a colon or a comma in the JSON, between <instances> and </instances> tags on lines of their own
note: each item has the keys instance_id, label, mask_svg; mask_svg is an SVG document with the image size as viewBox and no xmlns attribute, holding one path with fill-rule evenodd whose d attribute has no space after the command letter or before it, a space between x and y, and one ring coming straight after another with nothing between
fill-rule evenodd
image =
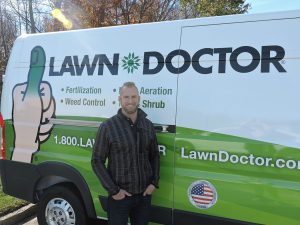
<instances>
[{"instance_id":1,"label":"van wheel with black tire and silver rim","mask_svg":"<svg viewBox=\"0 0 300 225\"><path fill-rule=\"evenodd\" d=\"M86 225L86 213L80 199L65 187L49 188L38 203L40 225Z\"/></svg>"}]
</instances>

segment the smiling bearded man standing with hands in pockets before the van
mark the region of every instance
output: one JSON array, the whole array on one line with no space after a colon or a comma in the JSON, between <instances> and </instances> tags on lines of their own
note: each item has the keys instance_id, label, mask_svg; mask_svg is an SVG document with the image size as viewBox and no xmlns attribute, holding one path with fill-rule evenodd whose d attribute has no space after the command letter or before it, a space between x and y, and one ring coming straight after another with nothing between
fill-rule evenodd
<instances>
[{"instance_id":1,"label":"smiling bearded man standing with hands in pockets before the van","mask_svg":"<svg viewBox=\"0 0 300 225\"><path fill-rule=\"evenodd\" d=\"M101 124L92 167L108 191L108 224L147 225L151 194L158 187L159 150L153 124L138 108L133 82L120 88L121 109ZM108 159L107 166L105 166Z\"/></svg>"}]
</instances>

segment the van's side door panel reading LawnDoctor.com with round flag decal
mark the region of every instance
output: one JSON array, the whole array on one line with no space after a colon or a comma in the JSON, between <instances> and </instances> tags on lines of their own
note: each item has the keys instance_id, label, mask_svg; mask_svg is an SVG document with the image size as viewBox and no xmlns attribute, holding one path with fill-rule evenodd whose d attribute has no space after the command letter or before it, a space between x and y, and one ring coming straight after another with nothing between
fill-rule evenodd
<instances>
[{"instance_id":1,"label":"van's side door panel reading LawnDoctor.com with round flag decal","mask_svg":"<svg viewBox=\"0 0 300 225\"><path fill-rule=\"evenodd\" d=\"M178 80L176 209L299 223L299 25L286 17L182 27L191 61Z\"/></svg>"}]
</instances>

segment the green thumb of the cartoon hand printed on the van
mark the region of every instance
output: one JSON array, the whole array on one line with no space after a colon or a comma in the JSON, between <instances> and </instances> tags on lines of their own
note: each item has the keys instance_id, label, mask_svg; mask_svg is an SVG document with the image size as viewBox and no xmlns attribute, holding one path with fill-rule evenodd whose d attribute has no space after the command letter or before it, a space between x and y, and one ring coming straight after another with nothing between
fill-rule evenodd
<instances>
[{"instance_id":1,"label":"green thumb of the cartoon hand printed on the van","mask_svg":"<svg viewBox=\"0 0 300 225\"><path fill-rule=\"evenodd\" d=\"M41 46L31 50L30 69L27 77L27 89L25 95L39 95L46 64L46 54ZM24 97L25 97L24 95Z\"/></svg>"}]
</instances>

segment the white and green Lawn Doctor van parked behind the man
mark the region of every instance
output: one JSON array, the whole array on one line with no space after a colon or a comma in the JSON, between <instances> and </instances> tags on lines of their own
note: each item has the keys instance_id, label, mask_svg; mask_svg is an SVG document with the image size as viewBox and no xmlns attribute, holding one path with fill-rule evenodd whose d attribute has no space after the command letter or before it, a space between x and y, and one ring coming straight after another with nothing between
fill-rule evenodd
<instances>
[{"instance_id":1,"label":"white and green Lawn Doctor van parked behind the man","mask_svg":"<svg viewBox=\"0 0 300 225\"><path fill-rule=\"evenodd\" d=\"M22 35L1 99L4 192L38 203L39 224L106 218L92 147L134 81L161 152L152 222L299 224L299 27L289 11Z\"/></svg>"}]
</instances>

